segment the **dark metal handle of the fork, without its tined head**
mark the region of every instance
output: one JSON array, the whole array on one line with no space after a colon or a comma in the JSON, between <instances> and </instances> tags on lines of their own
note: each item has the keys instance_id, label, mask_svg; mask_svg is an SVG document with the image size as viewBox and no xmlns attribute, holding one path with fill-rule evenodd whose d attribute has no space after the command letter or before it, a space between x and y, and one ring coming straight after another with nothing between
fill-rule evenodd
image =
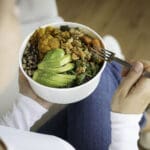
<instances>
[{"instance_id":1,"label":"dark metal handle of the fork, without its tined head","mask_svg":"<svg viewBox=\"0 0 150 150\"><path fill-rule=\"evenodd\" d=\"M127 61L124 61L124 60L122 60L122 59L120 59L120 58L118 58L118 57L114 57L114 58L113 58L113 61L116 61L116 62L118 62L119 64L121 64L121 65L123 65L123 66L126 66L126 67L129 68L129 69L132 67L132 65L129 64ZM144 71L144 72L143 72L143 76L144 76L144 77L147 77L147 78L150 78L150 72Z\"/></svg>"}]
</instances>

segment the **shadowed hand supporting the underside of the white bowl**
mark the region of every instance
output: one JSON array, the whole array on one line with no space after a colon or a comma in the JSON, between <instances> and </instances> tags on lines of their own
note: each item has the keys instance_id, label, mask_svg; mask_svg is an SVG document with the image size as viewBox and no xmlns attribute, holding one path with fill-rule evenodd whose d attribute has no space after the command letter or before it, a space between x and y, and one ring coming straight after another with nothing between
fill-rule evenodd
<instances>
[{"instance_id":1,"label":"shadowed hand supporting the underside of the white bowl","mask_svg":"<svg viewBox=\"0 0 150 150\"><path fill-rule=\"evenodd\" d=\"M42 105L46 109L49 109L49 107L52 105L50 102L47 102L41 99L34 93L27 79L24 77L21 71L19 71L19 89L20 89L20 93L22 93L23 95L27 97L32 98L34 101L38 102L40 105Z\"/></svg>"}]
</instances>

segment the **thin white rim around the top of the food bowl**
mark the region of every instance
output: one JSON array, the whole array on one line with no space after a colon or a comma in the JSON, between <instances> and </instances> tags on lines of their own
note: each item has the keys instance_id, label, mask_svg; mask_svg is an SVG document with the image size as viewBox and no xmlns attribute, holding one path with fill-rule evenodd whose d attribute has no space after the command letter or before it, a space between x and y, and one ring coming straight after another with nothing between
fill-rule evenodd
<instances>
[{"instance_id":1,"label":"thin white rim around the top of the food bowl","mask_svg":"<svg viewBox=\"0 0 150 150\"><path fill-rule=\"evenodd\" d=\"M77 27L82 27L82 28L84 28L85 30L88 30L88 31L90 31L90 32L92 32L92 34L93 35L95 35L101 42L102 42L102 45L105 47L105 44L104 44L104 42L103 42L103 39L102 39L102 37L96 32L96 31L94 31L92 28L90 28L90 27L88 27L88 26L86 26L86 25L83 25L83 24L81 24L81 23L77 23L77 22L66 22L66 21L64 21L64 22L54 22L54 23L49 23L49 24L44 24L44 25L41 25L41 26L39 26L38 28L43 28L43 27L47 27L47 26L57 26L57 25L73 25L73 26L77 26ZM97 76L99 76L99 74L100 73L102 73L103 72L103 70L104 70L104 68L105 68L105 66L106 66L106 62L104 61L103 62L103 65L102 65L102 67L100 68L100 70L99 70L99 72L92 78L92 79L90 79L89 81L87 81L87 82L85 82L85 83L83 83L83 84L81 84L81 85L78 85L78 86L75 86L75 87L69 87L69 88L55 88L55 87L48 87L48 86L45 86L45 85L42 85L42 84L40 84L40 83L38 83L38 82L36 82L36 81L34 81L31 77L29 77L27 74L26 74L26 72L24 71L24 69L23 69L23 67L22 67L22 57L23 57L23 53L24 53L24 51L25 51L25 47L26 47L26 44L28 43L28 41L29 41L29 39L30 39L30 37L33 35L33 33L35 32L35 30L37 30L38 28L35 28L34 30L33 30L33 32L31 32L31 33L29 33L28 34L28 36L24 39L24 41L22 42L22 44L21 44L21 47L20 47L20 50L19 50L19 68L21 69L21 72L23 73L23 75L27 78L27 80L28 81L30 81L30 82L32 82L32 83L34 83L36 86L40 86L40 87L42 87L42 88L45 88L45 89L51 89L51 90L59 90L59 91L69 91L69 90L76 90L76 89L80 89L80 88L82 88L82 87L84 87L85 85L88 85L88 84L90 84Z\"/></svg>"}]
</instances>

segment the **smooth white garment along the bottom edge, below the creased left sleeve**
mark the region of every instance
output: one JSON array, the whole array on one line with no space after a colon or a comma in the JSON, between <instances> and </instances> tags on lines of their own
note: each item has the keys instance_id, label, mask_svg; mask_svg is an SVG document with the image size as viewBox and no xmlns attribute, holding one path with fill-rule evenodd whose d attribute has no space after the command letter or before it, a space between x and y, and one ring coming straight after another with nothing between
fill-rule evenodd
<instances>
[{"instance_id":1,"label":"smooth white garment along the bottom edge, below the creased left sleeve","mask_svg":"<svg viewBox=\"0 0 150 150\"><path fill-rule=\"evenodd\" d=\"M75 150L67 141L56 136L1 125L0 140L6 145L7 150Z\"/></svg>"}]
</instances>

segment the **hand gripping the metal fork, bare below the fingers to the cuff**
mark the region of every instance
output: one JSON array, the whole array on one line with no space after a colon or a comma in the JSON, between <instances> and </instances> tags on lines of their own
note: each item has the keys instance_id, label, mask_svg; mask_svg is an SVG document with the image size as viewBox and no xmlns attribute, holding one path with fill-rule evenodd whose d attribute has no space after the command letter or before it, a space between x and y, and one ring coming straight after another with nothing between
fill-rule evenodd
<instances>
[{"instance_id":1,"label":"hand gripping the metal fork, bare below the fingers to the cuff","mask_svg":"<svg viewBox=\"0 0 150 150\"><path fill-rule=\"evenodd\" d=\"M143 71L150 71L150 62L133 63L130 71L116 90L112 100L112 111L124 114L140 114L150 103L150 79L141 76Z\"/></svg>"}]
</instances>

